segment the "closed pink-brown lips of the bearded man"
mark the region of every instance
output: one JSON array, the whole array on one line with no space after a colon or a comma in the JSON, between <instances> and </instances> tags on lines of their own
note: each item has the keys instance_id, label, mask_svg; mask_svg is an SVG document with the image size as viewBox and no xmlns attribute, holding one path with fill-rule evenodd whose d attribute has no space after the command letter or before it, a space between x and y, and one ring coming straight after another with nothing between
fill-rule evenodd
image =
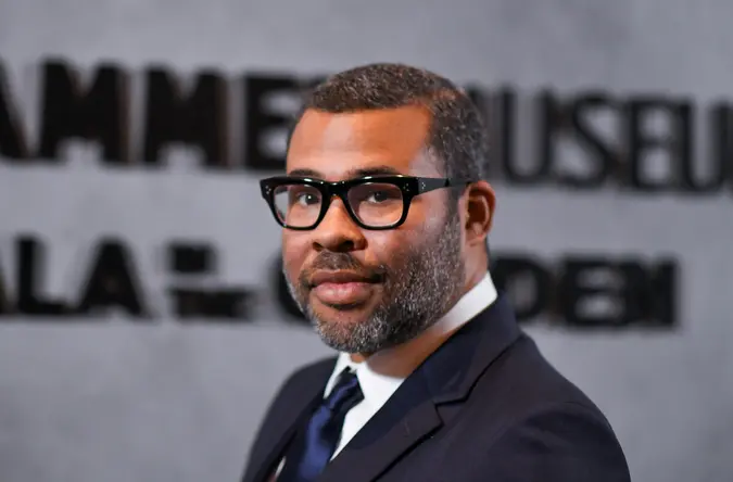
<instances>
[{"instance_id":1,"label":"closed pink-brown lips of the bearded man","mask_svg":"<svg viewBox=\"0 0 733 482\"><path fill-rule=\"evenodd\" d=\"M324 304L332 306L358 305L366 302L377 277L353 271L317 271L311 278L312 292Z\"/></svg>"}]
</instances>

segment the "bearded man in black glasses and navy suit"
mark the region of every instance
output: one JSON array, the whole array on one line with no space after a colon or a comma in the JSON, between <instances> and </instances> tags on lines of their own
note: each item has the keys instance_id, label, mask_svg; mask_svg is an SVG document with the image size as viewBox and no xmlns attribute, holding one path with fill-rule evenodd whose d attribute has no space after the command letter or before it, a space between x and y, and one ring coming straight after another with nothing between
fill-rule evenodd
<instances>
[{"instance_id":1,"label":"bearded man in black glasses and navy suit","mask_svg":"<svg viewBox=\"0 0 733 482\"><path fill-rule=\"evenodd\" d=\"M291 294L340 354L298 370L244 482L625 482L608 422L517 327L486 266L485 128L448 80L399 64L305 103L262 181Z\"/></svg>"}]
</instances>

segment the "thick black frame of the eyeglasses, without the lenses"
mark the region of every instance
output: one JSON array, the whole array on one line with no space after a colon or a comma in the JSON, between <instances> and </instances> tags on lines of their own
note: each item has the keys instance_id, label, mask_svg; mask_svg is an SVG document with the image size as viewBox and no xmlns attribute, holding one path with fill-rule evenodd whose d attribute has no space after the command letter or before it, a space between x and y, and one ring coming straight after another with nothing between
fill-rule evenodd
<instances>
[{"instance_id":1,"label":"thick black frame of the eyeglasses, without the lenses","mask_svg":"<svg viewBox=\"0 0 733 482\"><path fill-rule=\"evenodd\" d=\"M370 226L364 224L359 220L356 213L352 208L349 202L349 190L355 186L365 185L369 182L378 182L386 185L393 185L400 188L402 191L402 216L396 221L386 225L386 226ZM425 194L426 192L434 191L437 189L467 186L472 181L465 180L455 180L446 178L435 178L435 177L413 177L413 176L365 176L355 179L347 179L342 181L329 182L321 179L314 179L308 177L291 177L291 176L276 176L260 181L260 189L262 191L262 196L267 201L275 220L287 229L293 229L296 231L307 231L315 229L321 220L326 217L328 208L331 205L333 196L338 196L343 202L343 205L346 207L349 216L352 220L363 229L369 229L374 231L382 231L387 229L394 229L401 226L407 219L407 213L409 212L409 206L413 202L413 199L417 195ZM275 205L275 191L280 186L286 185L305 185L316 188L321 196L320 203L320 213L314 223L309 226L290 226L278 215L277 206Z\"/></svg>"}]
</instances>

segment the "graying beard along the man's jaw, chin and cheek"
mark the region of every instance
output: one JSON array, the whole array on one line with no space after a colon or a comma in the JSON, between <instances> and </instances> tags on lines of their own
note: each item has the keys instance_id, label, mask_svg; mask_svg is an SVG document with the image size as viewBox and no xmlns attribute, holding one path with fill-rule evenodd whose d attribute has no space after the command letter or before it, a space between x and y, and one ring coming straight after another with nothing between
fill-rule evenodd
<instances>
[{"instance_id":1,"label":"graying beard along the man's jaw, chin and cheek","mask_svg":"<svg viewBox=\"0 0 733 482\"><path fill-rule=\"evenodd\" d=\"M290 294L321 340L345 353L371 354L414 339L443 316L462 292L460 220L453 215L438 238L387 270L384 299L365 320L339 324L321 319L285 272ZM285 263L283 263L285 265Z\"/></svg>"}]
</instances>

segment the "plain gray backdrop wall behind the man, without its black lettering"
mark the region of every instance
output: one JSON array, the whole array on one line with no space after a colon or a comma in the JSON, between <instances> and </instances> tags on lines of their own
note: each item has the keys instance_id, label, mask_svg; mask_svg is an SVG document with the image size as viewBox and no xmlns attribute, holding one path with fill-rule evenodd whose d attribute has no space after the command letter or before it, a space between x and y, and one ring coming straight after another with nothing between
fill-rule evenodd
<instances>
[{"instance_id":1,"label":"plain gray backdrop wall behind the man, without its black lettering","mask_svg":"<svg viewBox=\"0 0 733 482\"><path fill-rule=\"evenodd\" d=\"M328 354L276 302L279 231L258 195L263 172L202 169L202 153L181 143L161 154L164 167L140 166L150 65L168 68L184 87L200 71L218 69L227 105L243 101L245 73L314 78L371 61L413 63L488 90L511 86L529 104L545 87L560 98L691 99L700 140L694 158L706 173L713 130L706 106L733 98L732 16L722 0L0 1L0 119L15 119L14 135L0 120L0 480L237 480L278 384ZM39 150L45 115L55 107L54 118L66 115L54 103L62 94L43 97L52 59L77 69L83 84L104 62L126 72L131 166L110 167L94 142L63 142L51 155ZM292 112L288 102L271 109ZM628 148L623 129L614 128L625 111L615 112L591 120L608 142ZM236 141L245 110L229 115ZM535 117L529 112L520 124ZM669 130L664 115L650 122ZM64 126L72 124L46 129L63 134ZM18 129L26 151L14 149ZM517 139L520 162L531 165L539 141L532 128L520 130L528 136ZM281 132L263 142L281 149ZM243 148L232 144L229 158L241 164ZM557 170L583 172L587 151L571 142L557 149ZM645 176L672 176L664 153L647 161ZM614 181L584 191L552 180L496 181L496 252L543 263L598 253L677 263L677 320L666 327L579 330L552 322L549 312L528 325L551 360L605 410L636 481L733 478L732 186L729 179L717 192L684 194ZM22 242L30 238L42 243L42 262ZM84 306L103 238L124 242L150 317L49 314L43 300ZM172 274L166 246L176 240L215 245L217 272L203 280ZM109 248L106 262L114 265L117 254ZM247 319L184 319L172 286L245 286L256 294Z\"/></svg>"}]
</instances>

